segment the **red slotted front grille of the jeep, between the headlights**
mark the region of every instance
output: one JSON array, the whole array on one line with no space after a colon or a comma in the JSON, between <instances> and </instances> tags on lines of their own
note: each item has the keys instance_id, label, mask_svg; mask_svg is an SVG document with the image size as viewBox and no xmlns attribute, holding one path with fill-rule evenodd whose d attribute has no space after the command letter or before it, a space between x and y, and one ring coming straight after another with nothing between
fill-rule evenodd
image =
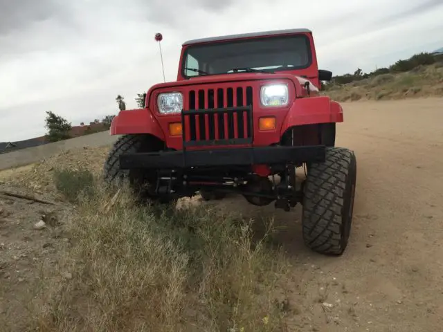
<instances>
[{"instance_id":1,"label":"red slotted front grille of the jeep, between the headlights","mask_svg":"<svg viewBox=\"0 0 443 332\"><path fill-rule=\"evenodd\" d=\"M252 142L252 86L191 90L186 99L184 146Z\"/></svg>"}]
</instances>

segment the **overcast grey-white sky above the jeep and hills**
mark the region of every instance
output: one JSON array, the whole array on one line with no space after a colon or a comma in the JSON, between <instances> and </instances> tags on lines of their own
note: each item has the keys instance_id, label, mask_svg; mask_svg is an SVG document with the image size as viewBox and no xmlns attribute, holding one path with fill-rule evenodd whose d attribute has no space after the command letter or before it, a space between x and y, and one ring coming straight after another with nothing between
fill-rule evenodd
<instances>
[{"instance_id":1,"label":"overcast grey-white sky above the jeep and hills","mask_svg":"<svg viewBox=\"0 0 443 332\"><path fill-rule=\"evenodd\" d=\"M443 46L443 0L0 0L0 141L42 136L45 111L78 125L177 77L181 43L310 28L320 68L372 71Z\"/></svg>"}]
</instances>

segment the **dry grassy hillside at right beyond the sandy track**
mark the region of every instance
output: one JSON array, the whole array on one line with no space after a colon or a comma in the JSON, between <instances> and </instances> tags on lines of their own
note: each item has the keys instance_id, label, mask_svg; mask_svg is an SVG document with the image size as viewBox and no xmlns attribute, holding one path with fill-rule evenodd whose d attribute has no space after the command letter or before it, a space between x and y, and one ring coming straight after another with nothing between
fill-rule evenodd
<instances>
[{"instance_id":1,"label":"dry grassy hillside at right beyond the sandy track","mask_svg":"<svg viewBox=\"0 0 443 332\"><path fill-rule=\"evenodd\" d=\"M350 84L332 86L325 91L333 100L395 100L443 95L443 66L419 66L399 74L383 74Z\"/></svg>"}]
</instances>

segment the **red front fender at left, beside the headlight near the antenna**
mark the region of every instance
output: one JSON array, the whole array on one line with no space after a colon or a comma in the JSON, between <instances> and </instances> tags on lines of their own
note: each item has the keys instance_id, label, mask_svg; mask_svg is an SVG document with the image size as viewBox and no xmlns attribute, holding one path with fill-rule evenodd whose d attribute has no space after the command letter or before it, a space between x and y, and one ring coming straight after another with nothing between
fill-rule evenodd
<instances>
[{"instance_id":1,"label":"red front fender at left, beside the headlight near the antenna","mask_svg":"<svg viewBox=\"0 0 443 332\"><path fill-rule=\"evenodd\" d=\"M150 133L161 140L165 140L165 133L159 122L154 118L150 109L131 109L120 111L111 122L111 135L126 133Z\"/></svg>"}]
</instances>

